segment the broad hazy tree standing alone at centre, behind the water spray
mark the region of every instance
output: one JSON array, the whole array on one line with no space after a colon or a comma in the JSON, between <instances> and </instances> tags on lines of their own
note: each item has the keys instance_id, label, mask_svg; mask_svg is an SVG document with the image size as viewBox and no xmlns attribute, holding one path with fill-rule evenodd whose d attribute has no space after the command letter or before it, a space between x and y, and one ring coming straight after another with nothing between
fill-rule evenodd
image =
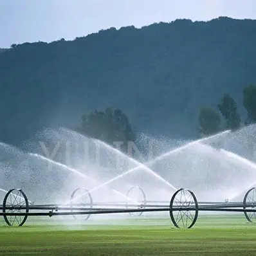
<instances>
[{"instance_id":1,"label":"broad hazy tree standing alone at centre, behind the water spray","mask_svg":"<svg viewBox=\"0 0 256 256\"><path fill-rule=\"evenodd\" d=\"M107 108L105 111L92 111L82 116L80 133L106 143L122 143L122 149L127 148L128 142L135 141L129 118L120 109Z\"/></svg>"}]
</instances>

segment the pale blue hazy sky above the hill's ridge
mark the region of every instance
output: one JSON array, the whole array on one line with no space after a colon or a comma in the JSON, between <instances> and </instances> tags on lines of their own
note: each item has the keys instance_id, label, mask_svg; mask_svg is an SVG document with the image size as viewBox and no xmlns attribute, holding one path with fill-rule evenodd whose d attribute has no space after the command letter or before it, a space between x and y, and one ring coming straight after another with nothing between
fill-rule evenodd
<instances>
[{"instance_id":1,"label":"pale blue hazy sky above the hill's ridge","mask_svg":"<svg viewBox=\"0 0 256 256\"><path fill-rule=\"evenodd\" d=\"M256 0L0 0L0 48L175 19L256 19Z\"/></svg>"}]
</instances>

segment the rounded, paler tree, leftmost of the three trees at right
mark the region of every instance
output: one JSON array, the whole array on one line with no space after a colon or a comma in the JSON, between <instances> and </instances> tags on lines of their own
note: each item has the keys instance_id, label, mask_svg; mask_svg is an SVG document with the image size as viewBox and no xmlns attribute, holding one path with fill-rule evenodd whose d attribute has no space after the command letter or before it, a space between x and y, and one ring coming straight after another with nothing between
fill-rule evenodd
<instances>
[{"instance_id":1,"label":"rounded, paler tree, leftmost of the three trees at right","mask_svg":"<svg viewBox=\"0 0 256 256\"><path fill-rule=\"evenodd\" d=\"M220 131L221 116L214 109L201 107L198 120L201 136L211 135Z\"/></svg>"}]
</instances>

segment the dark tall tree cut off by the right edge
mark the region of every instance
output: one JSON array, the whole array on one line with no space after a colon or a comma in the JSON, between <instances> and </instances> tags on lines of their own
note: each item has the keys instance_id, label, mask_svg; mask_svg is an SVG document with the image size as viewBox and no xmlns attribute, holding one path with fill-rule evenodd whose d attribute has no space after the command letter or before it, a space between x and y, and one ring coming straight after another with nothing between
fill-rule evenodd
<instances>
[{"instance_id":1,"label":"dark tall tree cut off by the right edge","mask_svg":"<svg viewBox=\"0 0 256 256\"><path fill-rule=\"evenodd\" d=\"M243 104L247 111L246 124L256 123L256 86L244 87Z\"/></svg>"}]
</instances>

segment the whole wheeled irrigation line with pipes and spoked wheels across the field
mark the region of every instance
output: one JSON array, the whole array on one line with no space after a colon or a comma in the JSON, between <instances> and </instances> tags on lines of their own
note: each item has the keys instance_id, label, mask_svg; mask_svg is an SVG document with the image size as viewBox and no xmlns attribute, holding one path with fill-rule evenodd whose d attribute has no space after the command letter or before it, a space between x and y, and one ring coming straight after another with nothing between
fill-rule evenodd
<instances>
[{"instance_id":1,"label":"whole wheeled irrigation line with pipes and spoked wheels across the field","mask_svg":"<svg viewBox=\"0 0 256 256\"><path fill-rule=\"evenodd\" d=\"M242 202L198 202L195 194L185 188L176 190L170 201L147 201L146 194L141 187L132 187L127 192L130 197L134 190L140 191L142 200L137 203L126 202L93 202L89 190L77 188L71 194L69 206L62 205L34 205L28 200L21 189L9 190L0 205L0 215L3 215L8 226L23 226L28 216L79 215L84 220L95 214L127 213L140 216L143 212L169 212L170 219L176 228L192 228L197 221L199 211L205 212L243 212L247 221L256 222L256 188L250 188L244 195ZM77 199L77 200L76 200Z\"/></svg>"}]
</instances>

